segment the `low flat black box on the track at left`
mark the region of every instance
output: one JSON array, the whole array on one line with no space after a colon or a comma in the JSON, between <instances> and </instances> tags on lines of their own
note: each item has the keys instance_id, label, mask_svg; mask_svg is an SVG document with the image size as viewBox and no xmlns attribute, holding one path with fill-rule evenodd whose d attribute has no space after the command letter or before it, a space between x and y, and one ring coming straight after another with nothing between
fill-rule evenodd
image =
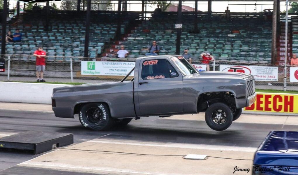
<instances>
[{"instance_id":1,"label":"low flat black box on the track at left","mask_svg":"<svg viewBox=\"0 0 298 175\"><path fill-rule=\"evenodd\" d=\"M61 132L27 131L0 138L0 149L18 149L40 154L74 143L73 134Z\"/></svg>"}]
</instances>

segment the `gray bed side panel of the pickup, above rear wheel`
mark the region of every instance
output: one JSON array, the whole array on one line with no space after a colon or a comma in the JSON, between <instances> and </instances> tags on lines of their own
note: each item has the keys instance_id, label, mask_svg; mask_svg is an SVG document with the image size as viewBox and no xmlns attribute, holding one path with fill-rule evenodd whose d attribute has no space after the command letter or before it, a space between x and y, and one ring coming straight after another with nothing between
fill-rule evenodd
<instances>
[{"instance_id":1,"label":"gray bed side panel of the pickup, above rear wheel","mask_svg":"<svg viewBox=\"0 0 298 175\"><path fill-rule=\"evenodd\" d=\"M90 102L107 103L113 118L135 117L133 82L77 86L69 91L57 90L53 98L56 99L53 110L57 117L73 118L75 105Z\"/></svg>"}]
</instances>

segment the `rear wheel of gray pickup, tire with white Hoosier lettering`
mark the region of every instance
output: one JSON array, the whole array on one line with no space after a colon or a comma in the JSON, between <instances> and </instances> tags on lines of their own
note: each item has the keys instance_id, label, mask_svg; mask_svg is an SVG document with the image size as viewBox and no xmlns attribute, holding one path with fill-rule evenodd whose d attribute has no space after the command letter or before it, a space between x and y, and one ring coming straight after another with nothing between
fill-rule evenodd
<instances>
[{"instance_id":1,"label":"rear wheel of gray pickup, tire with white Hoosier lettering","mask_svg":"<svg viewBox=\"0 0 298 175\"><path fill-rule=\"evenodd\" d=\"M114 123L108 106L103 103L83 105L80 108L79 120L84 127L97 131L107 130Z\"/></svg>"}]
</instances>

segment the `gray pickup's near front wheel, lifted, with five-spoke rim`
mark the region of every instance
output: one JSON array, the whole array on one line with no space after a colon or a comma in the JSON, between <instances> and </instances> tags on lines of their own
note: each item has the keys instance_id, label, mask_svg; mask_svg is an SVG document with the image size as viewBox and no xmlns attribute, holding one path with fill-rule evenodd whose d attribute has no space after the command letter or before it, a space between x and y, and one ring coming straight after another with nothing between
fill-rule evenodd
<instances>
[{"instance_id":1,"label":"gray pickup's near front wheel, lifted, with five-spoke rim","mask_svg":"<svg viewBox=\"0 0 298 175\"><path fill-rule=\"evenodd\" d=\"M233 112L224 103L214 103L205 112L207 125L215 131L223 131L232 124Z\"/></svg>"}]
</instances>

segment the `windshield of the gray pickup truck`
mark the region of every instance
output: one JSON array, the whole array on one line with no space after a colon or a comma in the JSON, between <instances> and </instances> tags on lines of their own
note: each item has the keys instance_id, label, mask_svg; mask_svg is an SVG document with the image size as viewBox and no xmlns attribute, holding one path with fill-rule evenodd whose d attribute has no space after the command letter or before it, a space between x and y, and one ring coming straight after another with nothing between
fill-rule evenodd
<instances>
[{"instance_id":1,"label":"windshield of the gray pickup truck","mask_svg":"<svg viewBox=\"0 0 298 175\"><path fill-rule=\"evenodd\" d=\"M172 61L175 63L175 65L179 68L181 73L183 75L191 75L196 74L198 71L189 63L187 62L183 57L172 57Z\"/></svg>"}]
</instances>

